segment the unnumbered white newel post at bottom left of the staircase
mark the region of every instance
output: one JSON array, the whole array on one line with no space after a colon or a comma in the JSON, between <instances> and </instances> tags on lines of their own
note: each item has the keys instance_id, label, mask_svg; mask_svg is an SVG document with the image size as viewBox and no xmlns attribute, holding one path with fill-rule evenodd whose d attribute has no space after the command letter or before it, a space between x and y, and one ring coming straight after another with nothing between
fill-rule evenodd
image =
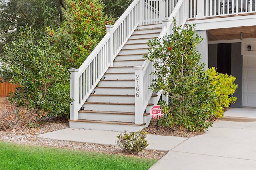
<instances>
[{"instance_id":1,"label":"unnumbered white newel post at bottom left of the staircase","mask_svg":"<svg viewBox=\"0 0 256 170\"><path fill-rule=\"evenodd\" d=\"M78 76L79 69L68 69L70 71L70 97L73 101L70 103L70 120L78 119Z\"/></svg>"}]
</instances>

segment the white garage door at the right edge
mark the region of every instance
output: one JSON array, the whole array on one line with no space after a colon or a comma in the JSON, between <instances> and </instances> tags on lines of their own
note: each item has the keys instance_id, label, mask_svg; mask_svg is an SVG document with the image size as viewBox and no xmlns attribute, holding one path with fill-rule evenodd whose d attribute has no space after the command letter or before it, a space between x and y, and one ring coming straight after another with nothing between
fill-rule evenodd
<instances>
[{"instance_id":1,"label":"white garage door at the right edge","mask_svg":"<svg viewBox=\"0 0 256 170\"><path fill-rule=\"evenodd\" d=\"M256 107L256 56L243 58L243 105Z\"/></svg>"}]
</instances>

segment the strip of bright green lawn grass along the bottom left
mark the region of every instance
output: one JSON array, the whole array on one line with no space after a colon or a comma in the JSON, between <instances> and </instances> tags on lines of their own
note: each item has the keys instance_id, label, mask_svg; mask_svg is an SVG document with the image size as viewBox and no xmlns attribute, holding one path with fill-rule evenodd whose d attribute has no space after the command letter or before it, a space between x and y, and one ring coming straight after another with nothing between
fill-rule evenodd
<instances>
[{"instance_id":1,"label":"strip of bright green lawn grass along the bottom left","mask_svg":"<svg viewBox=\"0 0 256 170\"><path fill-rule=\"evenodd\" d=\"M0 141L0 170L147 170L157 160Z\"/></svg>"}]
</instances>

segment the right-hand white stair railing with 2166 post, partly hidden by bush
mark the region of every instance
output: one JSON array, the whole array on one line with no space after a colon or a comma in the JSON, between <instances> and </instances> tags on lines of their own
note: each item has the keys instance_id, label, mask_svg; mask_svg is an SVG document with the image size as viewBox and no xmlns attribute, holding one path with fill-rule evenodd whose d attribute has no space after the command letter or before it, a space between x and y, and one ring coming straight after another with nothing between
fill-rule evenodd
<instances>
[{"instance_id":1,"label":"right-hand white stair railing with 2166 post, partly hidden by bush","mask_svg":"<svg viewBox=\"0 0 256 170\"><path fill-rule=\"evenodd\" d=\"M169 34L172 34L173 18L176 19L177 25L184 25L188 18L188 2L187 0L179 0L172 10L168 19L162 20L162 32L158 38L164 38ZM142 66L134 67L135 70L135 123L143 123L143 113L150 101L153 94L151 90L148 89L150 83L153 79L156 79L152 73L154 67L152 62L145 61ZM160 97L162 91L158 93Z\"/></svg>"}]
</instances>

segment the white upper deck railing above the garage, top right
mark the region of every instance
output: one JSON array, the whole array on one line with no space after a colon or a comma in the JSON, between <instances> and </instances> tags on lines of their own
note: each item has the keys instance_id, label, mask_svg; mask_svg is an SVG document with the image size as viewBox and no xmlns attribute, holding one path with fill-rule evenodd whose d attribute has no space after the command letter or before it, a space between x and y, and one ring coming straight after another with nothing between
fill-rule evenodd
<instances>
[{"instance_id":1,"label":"white upper deck railing above the garage, top right","mask_svg":"<svg viewBox=\"0 0 256 170\"><path fill-rule=\"evenodd\" d=\"M190 19L256 12L255 0L189 0L189 5Z\"/></svg>"}]
</instances>

